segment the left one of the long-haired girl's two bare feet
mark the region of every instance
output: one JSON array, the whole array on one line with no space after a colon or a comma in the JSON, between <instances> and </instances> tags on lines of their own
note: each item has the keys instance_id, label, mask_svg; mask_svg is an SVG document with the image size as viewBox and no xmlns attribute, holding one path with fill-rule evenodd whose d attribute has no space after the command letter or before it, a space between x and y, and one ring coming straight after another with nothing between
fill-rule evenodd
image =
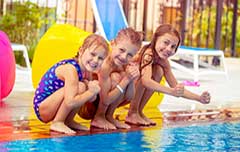
<instances>
[{"instance_id":1,"label":"left one of the long-haired girl's two bare feet","mask_svg":"<svg viewBox=\"0 0 240 152\"><path fill-rule=\"evenodd\" d=\"M136 113L128 114L125 121L134 125L148 125L148 122L146 122L139 114Z\"/></svg>"}]
</instances>

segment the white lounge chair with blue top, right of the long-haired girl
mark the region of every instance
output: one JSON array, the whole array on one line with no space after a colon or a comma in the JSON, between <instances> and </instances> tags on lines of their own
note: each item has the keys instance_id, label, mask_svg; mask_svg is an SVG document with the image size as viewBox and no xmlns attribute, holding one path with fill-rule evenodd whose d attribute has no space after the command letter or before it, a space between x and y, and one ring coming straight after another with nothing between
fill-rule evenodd
<instances>
[{"instance_id":1,"label":"white lounge chair with blue top, right of the long-haired girl","mask_svg":"<svg viewBox=\"0 0 240 152\"><path fill-rule=\"evenodd\" d=\"M221 68L212 66L211 63L205 63L200 60L200 57L218 56L221 63ZM207 49L207 48L194 48L180 46L174 58L180 57L186 61L190 61L193 67L186 67L179 64L174 60L170 60L171 66L177 70L183 71L193 76L194 81L198 81L200 76L203 75L224 75L228 79L227 68L224 61L224 53L221 50Z\"/></svg>"}]
</instances>

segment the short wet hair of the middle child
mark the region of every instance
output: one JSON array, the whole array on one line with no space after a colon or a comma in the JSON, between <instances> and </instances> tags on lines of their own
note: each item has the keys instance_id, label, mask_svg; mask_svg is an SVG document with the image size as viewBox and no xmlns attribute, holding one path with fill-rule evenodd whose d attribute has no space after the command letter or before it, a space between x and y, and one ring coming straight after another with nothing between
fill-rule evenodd
<instances>
[{"instance_id":1,"label":"short wet hair of the middle child","mask_svg":"<svg viewBox=\"0 0 240 152\"><path fill-rule=\"evenodd\" d=\"M115 43L118 43L119 41L121 41L124 38L127 38L128 40L130 40L130 42L132 44L134 44L140 48L142 45L143 34L142 34L142 32L138 32L138 31L134 30L133 28L128 27L128 28L120 30L118 32L116 38L113 41Z\"/></svg>"}]
</instances>

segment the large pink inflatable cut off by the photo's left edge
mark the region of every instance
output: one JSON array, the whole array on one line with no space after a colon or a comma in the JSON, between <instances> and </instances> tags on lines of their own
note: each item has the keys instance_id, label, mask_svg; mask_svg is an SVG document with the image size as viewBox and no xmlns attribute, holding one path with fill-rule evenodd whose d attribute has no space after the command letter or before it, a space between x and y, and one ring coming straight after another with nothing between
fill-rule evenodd
<instances>
[{"instance_id":1,"label":"large pink inflatable cut off by the photo's left edge","mask_svg":"<svg viewBox=\"0 0 240 152\"><path fill-rule=\"evenodd\" d=\"M7 97L15 82L15 57L7 35L0 31L0 101Z\"/></svg>"}]
</instances>

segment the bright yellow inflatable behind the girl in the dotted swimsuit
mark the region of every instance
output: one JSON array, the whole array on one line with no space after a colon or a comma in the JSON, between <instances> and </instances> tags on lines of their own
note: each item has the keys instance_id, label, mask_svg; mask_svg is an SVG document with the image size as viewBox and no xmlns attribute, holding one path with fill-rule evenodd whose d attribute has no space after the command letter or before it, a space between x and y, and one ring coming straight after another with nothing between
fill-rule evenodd
<instances>
[{"instance_id":1,"label":"bright yellow inflatable behind the girl in the dotted swimsuit","mask_svg":"<svg viewBox=\"0 0 240 152\"><path fill-rule=\"evenodd\" d=\"M43 74L60 60L77 54L84 39L90 35L68 24L55 24L40 39L33 56L32 82L36 88Z\"/></svg>"}]
</instances>

